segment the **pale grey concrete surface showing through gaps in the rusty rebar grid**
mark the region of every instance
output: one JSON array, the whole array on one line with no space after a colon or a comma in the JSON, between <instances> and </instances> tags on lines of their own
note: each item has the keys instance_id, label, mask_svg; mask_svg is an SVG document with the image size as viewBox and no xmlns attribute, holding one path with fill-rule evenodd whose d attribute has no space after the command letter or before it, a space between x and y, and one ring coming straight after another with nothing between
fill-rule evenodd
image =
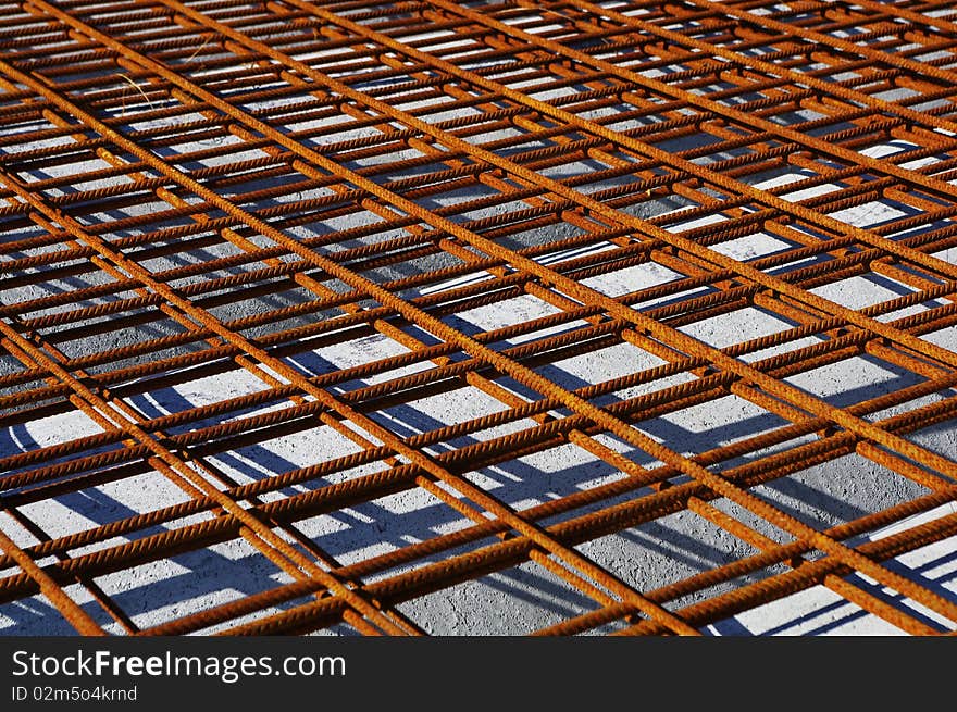
<instances>
[{"instance_id":1,"label":"pale grey concrete surface showing through gaps in the rusty rebar grid","mask_svg":"<svg viewBox=\"0 0 957 712\"><path fill-rule=\"evenodd\" d=\"M588 170L588 166L581 166L581 170ZM761 185L775 185L799 177L796 174L762 176L765 183ZM656 202L643 205L638 214L650 216L679 207L680 203L676 202ZM886 220L895 210L894 205L873 203L845 211L838 217L855 225L868 226ZM539 243L542 240L556 240L566 236L568 233L563 230L567 229L567 227L550 227L522 234L506 243L521 247ZM303 228L297 228L296 233L299 236L307 234ZM739 259L753 259L774 250L776 246L776 241L771 237L756 236L723 243L716 249ZM210 259L224 253L224 249L203 250L190 255L190 259ZM953 258L953 255L941 257ZM549 260L554 259L556 255L549 257ZM449 263L451 258L448 257L426 258L414 265L382 270L376 273L376 277L386 280L407 276L417 270L432 270ZM178 264L182 264L179 259L158 260L150 266L153 270L162 270ZM71 279L69 284L50 285L50 289L52 291L59 288L76 288L83 284L95 284L98 278L91 275L84 280ZM606 293L618 295L667 279L669 279L669 271L664 267L642 265L587 282ZM456 284L461 284L461 280ZM430 291L438 288L442 287L431 287ZM817 291L838 303L859 308L866 303L886 299L895 295L898 288L899 285L887 279L869 277L849 279ZM21 301L36 297L38 293L35 289L16 290L13 293L0 290L0 299ZM231 320L259 310L296 303L306 298L307 295L301 290L289 291L275 298L231 304L213 311L219 317ZM456 323L467 330L486 329L524 321L550 311L550 307L537 299L521 297L493 308L481 308L459 314ZM685 330L707 343L723 347L785 327L786 324L778 318L757 310L747 310L695 324ZM72 341L65 350L69 355L80 355L91 350L99 351L176 333L181 328L170 321L164 321L107 336L91 334ZM250 334L254 336L257 330L253 329ZM957 349L957 332L954 329L935 334L930 338L947 348ZM385 337L371 336L349 345L297 355L291 361L303 371L319 373L398 353L401 350ZM135 361L130 360L130 362ZM617 346L601 352L555 363L544 369L543 373L563 386L579 387L585 383L631 373L654 363L656 363L655 358L647 353L631 346ZM0 358L0 369L4 372L18 367L10 357ZM831 402L843 404L909 385L911 378L910 374L877 362L874 359L859 358L829 369L801 374L792 382L826 397ZM663 385L656 383L652 387L657 389ZM176 388L151 392L148 397L137 397L130 399L130 402L145 415L154 416L262 387L263 384L257 378L236 370ZM519 386L514 385L514 387L521 391ZM619 396L629 397L633 392L635 391L622 392ZM949 392L945 395L953 396ZM939 397L941 396L933 398ZM499 409L501 404L488 396L474 388L465 388L456 394L393 408L382 412L377 417L395 432L406 435ZM527 423L518 423L510 427L519 428L523 425ZM736 396L728 396L707 405L643 423L642 429L666 440L680 451L699 452L780 425L781 421L776 417ZM96 433L98 429L87 416L74 412L30 423L26 427L0 430L0 454L69 440L80 434ZM476 437L487 438L500 432L483 433ZM917 437L923 445L947 457L957 457L953 424L929 428ZM616 438L600 439L636 462L654 464L647 455L634 451ZM457 445L467 441L469 440ZM216 457L213 461L238 480L249 482L356 449L356 446L341 435L333 433L328 427L322 427L243 448ZM377 465L366 466L363 472L370 472L375 466ZM357 472L344 473L340 477L353 476ZM496 497L520 508L620 476L621 473L606 463L572 446L521 458L470 475L473 482L481 484ZM321 483L316 483L315 486L320 485ZM922 494L921 488L913 483L857 455L811 467L786 479L760 487L756 491L768 501L818 527L879 511ZM30 505L26 511L51 536L57 536L147 511L156 508L159 502L170 504L185 499L186 496L171 483L156 473L149 473L129 480L98 487L82 495L64 496L53 502ZM736 511L726 502L720 505L753 523L769 536L782 538L781 533L773 527L754 521L754 517ZM341 562L348 563L463 525L464 521L452 510L439 505L435 499L417 490L334 515L314 517L303 522L300 528ZM0 514L0 526L22 544L33 541L5 514ZM957 564L955 564L957 542L950 541L945 545L903 558L894 565L902 571L916 572L954 598L957 595L955 594L957 592ZM751 552L746 545L726 532L689 512L588 542L581 547L581 551L643 590L736 560ZM256 554L247 544L236 540L208 550L182 554L172 560L139 566L132 572L104 576L98 583L115 598L138 625L148 626L171 616L184 615L254 594L285 580L288 580L285 574ZM870 586L867 582L861 582L861 585ZM77 600L85 602L85 608L103 623L108 630L119 632L117 626L111 623L78 587L72 587L71 592L77 597ZM684 602L713 592L706 590ZM402 610L434 634L487 635L526 632L591 608L592 603L581 594L572 590L542 566L527 563L508 572L461 584L412 601L405 604ZM812 589L763 609L750 611L714 626L709 632L713 634L883 634L890 630L873 616L861 615L858 609L835 601L823 589ZM72 628L42 597L0 607L0 635L70 633Z\"/></svg>"}]
</instances>

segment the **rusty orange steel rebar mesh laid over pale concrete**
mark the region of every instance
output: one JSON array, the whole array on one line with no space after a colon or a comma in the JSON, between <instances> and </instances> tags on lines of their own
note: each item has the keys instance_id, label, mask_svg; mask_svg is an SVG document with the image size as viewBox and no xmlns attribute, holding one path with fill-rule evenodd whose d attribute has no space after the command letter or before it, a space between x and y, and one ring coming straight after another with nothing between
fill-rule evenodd
<instances>
[{"instance_id":1,"label":"rusty orange steel rebar mesh laid over pale concrete","mask_svg":"<svg viewBox=\"0 0 957 712\"><path fill-rule=\"evenodd\" d=\"M14 389L0 394L2 407L11 409L0 413L0 424L18 428L32 419L77 412L104 432L0 452L0 466L10 467L0 474L0 501L9 503L13 521L44 536L34 521L38 515L27 516L21 507L34 511L58 494L123 486L151 467L181 484L188 499L112 525L46 537L33 547L9 552L2 547L0 570L14 573L0 578L0 600L40 590L57 599L78 629L92 632L61 594L61 585L78 580L89 582L116 621L129 621L127 632L210 626L234 633L307 632L345 622L362 633L419 633L428 625L410 616L409 609L399 613L398 603L529 562L600 607L554 626L561 633L595 625L621 628L642 615L647 619L634 632L696 633L794 586L817 584L906 632L947 627L875 598L845 580L848 572L873 577L953 626L953 601L919 576L880 563L950 537L949 520L913 527L881 546L845 540L852 532L859 536L954 498L957 464L905 437L953 417L949 400L917 403L950 388L957 366L948 346L925 338L957 323L957 267L947 252L957 245L948 183L957 160L950 154L953 139L937 133L957 126L948 103L954 92L946 86L945 58L928 64L912 59L921 57L920 47L899 55L896 48L911 42L936 51L957 41L949 39L946 20L930 23L937 35L904 8L869 8L877 13L869 16L859 10L863 5L842 5L828 16L824 5L830 4L818 14L798 13L795 21L785 11L772 18L748 12L753 4L745 10L706 0L635 4L627 15L577 0L540 8L444 0L368 8L301 0L23 2L23 11L4 21L13 29L0 30L0 72L7 77L0 112L11 126L24 127L21 135L0 130L0 180L8 202L0 210L0 265L10 265L10 286L3 290L3 277L0 295L12 299L0 307L0 333L9 357L22 364L0 375L0 387ZM888 14L903 21L890 35L881 24ZM863 33L850 37L865 43L832 35L834 28L858 25ZM769 34L792 27L792 40ZM765 45L773 51L763 51ZM751 54L751 49L762 51ZM812 53L822 62L811 70ZM679 71L654 78L643 71L672 66ZM917 66L928 71L907 79L903 72ZM880 95L897 80L912 96L888 100ZM746 105L754 109L744 111ZM780 120L790 107L807 108L818 117L807 129L790 128ZM696 132L717 142L680 153L661 148ZM886 158L865 152L888 136L910 148ZM209 147L202 143L208 139L227 140ZM411 160L406 150L414 152ZM84 164L86 157L104 160L108 167ZM698 163L701 158L711 163ZM936 163L911 164L928 159ZM552 177L582 160L598 168ZM762 172L790 165L810 177L793 186L755 187ZM35 175L38 170L44 173ZM270 187L257 187L258 180ZM798 186L823 192L795 199ZM484 197L463 200L457 196L463 190ZM671 196L687 207L651 220L629 210L654 210L655 201ZM437 202L430 204L433 197ZM882 197L913 212L866 228L835 217ZM281 202L269 205L273 198ZM685 226L698 218L719 222ZM337 222L343 220L351 222L343 227ZM300 237L299 226L313 225L323 229ZM523 249L507 245L512 235L549 226L564 226L572 236ZM743 260L726 253L731 240L758 239L762 229L785 241L773 257ZM177 235L185 238L182 243ZM350 245L357 239L358 247ZM212 251L192 252L194 247ZM585 252L569 257L562 250ZM181 259L185 262L175 262ZM438 266L417 266L434 259ZM819 262L801 263L809 259ZM152 266L167 260L179 266ZM394 265L411 270L406 273L411 276L375 276ZM660 265L678 278L622 296L588 284L643 265ZM905 296L861 309L811 291L871 274L905 285ZM443 284L461 277L480 280ZM63 296L47 291L48 285L69 284L61 279L87 286L70 285ZM225 307L244 309L259 298L293 293L306 301L240 318L216 316ZM447 321L476 308L495 310L520 295L555 313L520 316L504 328L475 334ZM92 305L80 302L87 299ZM916 307L925 311L893 316ZM798 326L725 348L683 330L748 308ZM284 326L288 318L306 321ZM102 337L140 325L176 329L119 349L97 346ZM555 328L566 333L550 336ZM253 336L250 329L262 333ZM364 334L380 334L408 352L320 376L296 365L299 354L349 345ZM519 337L527 341L510 345ZM808 337L820 342L797 348L798 339ZM198 350L176 351L189 345ZM575 389L542 371L552 359L598 354L614 345L663 365ZM744 358L768 348L784 351L765 360ZM174 355L162 358L164 349ZM858 354L893 364L918 385L874 399L872 407L841 408L790 380L832 364L846 366ZM128 359L140 363L124 365ZM159 419L127 400L188 385L203 374L228 373L229 362L264 390ZM420 371L402 371L413 366ZM381 380L344 389L350 379L371 376ZM692 380L671 385L672 376ZM508 378L529 390L517 391ZM658 390L607 401L636 385ZM506 410L411 437L395 432L386 417L395 404L462 387L487 394ZM643 429L645 422L691 413L724 396L741 397L785 425L707 457L684 454L678 442L660 442ZM270 403L281 407L254 412ZM865 417L869 408L902 405L910 410L891 419ZM252 415L244 414L248 409ZM233 414L234 421L202 424ZM522 419L533 425L522 425ZM456 444L467 434L507 424L519 429ZM245 485L214 463L247 444L322 427L353 441L359 451L315 453L312 464ZM619 453L602 440L609 435L664 466L649 469ZM811 441L803 444L807 437ZM517 508L469 475L558 447L576 448L623 473L625 479L618 480L623 484ZM783 450L767 454L765 448ZM857 529L821 532L748 491L847 453L934 494L865 516ZM751 463L734 464L746 454ZM327 484L308 496L281 494L295 483L313 485L373 464L384 467L381 474L362 475L355 485ZM682 479L686 475L689 483ZM646 485L651 494L643 494ZM297 526L311 512L371 503L410 488L470 525L353 563L340 563ZM613 503L625 492L630 501ZM747 519L716 500L734 502ZM559 524L545 521L583 507L591 513ZM575 549L682 509L765 552L655 589ZM36 511L42 517L42 509ZM171 529L169 536L107 544L111 532L135 535L150 523L172 525L196 515L212 519ZM765 524L756 525L755 516ZM288 533L297 546L273 529ZM781 532L794 540L779 544ZM138 561L237 536L247 537L294 583L165 623L147 619L141 626L95 580L122 574ZM501 541L482 548L489 536ZM83 546L97 550L71 555ZM462 546L469 551L424 563ZM801 559L815 550L824 557ZM54 553L58 562L42 569L33 564L32 557L42 551ZM769 585L744 586L679 609L680 614L664 608L678 591L699 585L693 582L707 586L730 580L722 577L737 575L732 572L781 561L796 566L793 575L774 574ZM417 570L403 573L403 566L417 563ZM375 583L363 580L373 573ZM310 596L311 602L295 603ZM270 615L277 604L293 608ZM251 623L238 624L249 615Z\"/></svg>"}]
</instances>

